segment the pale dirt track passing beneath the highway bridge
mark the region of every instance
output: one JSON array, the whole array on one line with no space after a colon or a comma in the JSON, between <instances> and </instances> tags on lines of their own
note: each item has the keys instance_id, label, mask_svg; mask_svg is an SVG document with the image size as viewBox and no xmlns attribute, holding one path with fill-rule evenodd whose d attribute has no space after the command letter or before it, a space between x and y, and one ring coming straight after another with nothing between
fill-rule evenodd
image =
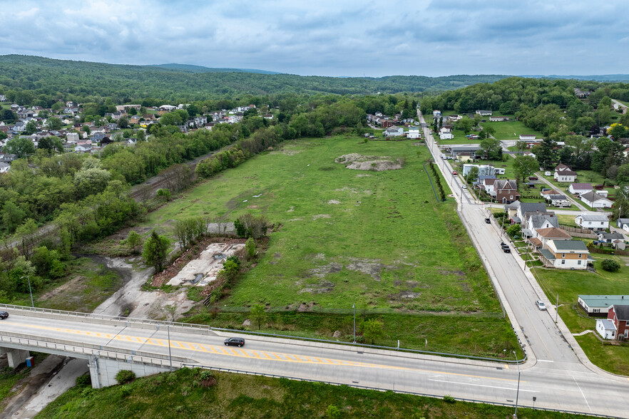
<instances>
[{"instance_id":1,"label":"pale dirt track passing beneath the highway bridge","mask_svg":"<svg viewBox=\"0 0 629 419\"><path fill-rule=\"evenodd\" d=\"M93 311L109 316L128 316L141 319L167 319L164 306L177 307L175 316L190 310L194 304L188 300L186 290L173 294L163 291L142 291L140 288L153 274L153 268L136 270L122 258L103 257L94 254L81 254L108 269L116 271L123 279L123 286ZM43 408L76 383L76 378L88 372L87 361L78 358L64 358L51 355L31 371L26 378L24 389L9 401L0 413L4 418L34 418Z\"/></svg>"}]
</instances>

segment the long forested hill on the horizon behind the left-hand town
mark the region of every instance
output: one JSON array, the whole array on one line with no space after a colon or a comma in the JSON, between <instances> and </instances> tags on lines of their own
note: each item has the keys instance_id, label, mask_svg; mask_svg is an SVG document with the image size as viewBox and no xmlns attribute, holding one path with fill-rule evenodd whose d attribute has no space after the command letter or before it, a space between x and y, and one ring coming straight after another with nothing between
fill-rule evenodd
<instances>
[{"instance_id":1,"label":"long forested hill on the horizon behind the left-hand town","mask_svg":"<svg viewBox=\"0 0 629 419\"><path fill-rule=\"evenodd\" d=\"M172 66L171 66L172 67ZM79 102L112 98L205 100L229 95L277 93L418 93L492 83L506 76L388 76L336 78L260 73L200 73L163 66L126 66L63 61L34 56L0 56L0 94L30 90L33 95ZM9 96L9 95L8 95Z\"/></svg>"}]
</instances>

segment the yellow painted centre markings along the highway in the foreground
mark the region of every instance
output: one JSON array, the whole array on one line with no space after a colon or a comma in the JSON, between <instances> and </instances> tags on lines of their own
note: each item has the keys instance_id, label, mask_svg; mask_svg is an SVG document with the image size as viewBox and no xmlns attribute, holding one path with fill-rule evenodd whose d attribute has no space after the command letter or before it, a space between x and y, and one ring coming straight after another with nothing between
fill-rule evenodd
<instances>
[{"instance_id":1,"label":"yellow painted centre markings along the highway in the foreground","mask_svg":"<svg viewBox=\"0 0 629 419\"><path fill-rule=\"evenodd\" d=\"M54 327L48 327L48 326L32 326L32 325L27 325L25 324L24 326L28 326L34 329L46 329L46 330L51 330L51 331L65 331L67 333L73 333L73 334L78 334L78 335L90 335L91 332L89 331L80 331L80 330L68 330L68 329L61 329L61 328L54 328ZM92 335L90 335L92 336ZM110 333L105 334L104 336L106 336L107 338L114 338L114 339L118 339L118 340L123 340L126 339L126 341L131 341L133 342L135 340L137 340L140 343L145 343L148 345L152 345L152 346L165 346L167 343L166 341L163 341L162 339L150 339L150 338L140 338L138 336L128 336L128 335L120 335L117 334L115 336L112 336ZM176 346L175 346L176 345ZM198 352L209 352L208 349L206 349L203 345L201 345L198 342L183 342L183 341L170 341L170 346L174 346L174 347L179 347L185 351L198 351ZM344 361L344 360L339 360L339 359L331 359L331 358L314 358L314 360L312 358L309 358L307 356L302 356L302 358L300 358L299 356L292 354L292 353L278 353L278 352L265 352L265 351L257 351L254 352L252 351L252 355L250 353L247 353L244 349L240 349L240 353L237 352L235 349L232 348L228 348L228 350L226 348L223 348L222 346L213 346L213 345L208 345L207 348L209 348L210 351L212 351L213 353L216 353L218 355L226 355L226 356L238 356L241 358L258 358L258 359L263 359L262 356L258 355L258 353L261 353L263 356L265 356L265 358L267 358L269 361L280 361L280 362L295 362L295 363L320 363L320 364L324 364L324 365L330 365L330 366L354 366L354 367L362 367L362 368L382 368L382 369L394 369L394 370L405 370L405 371L418 371L418 372L424 372L424 373L437 373L437 374L443 374L443 375L447 375L447 376L460 376L460 377L470 377L470 378L487 378L490 380L498 380L498 381L517 381L511 378L496 378L496 377L486 377L486 376L476 376L476 375L472 375L472 374L462 374L462 373L449 373L449 372L445 372L445 371L431 371L431 370L426 370L426 369L422 369L422 368L408 368L408 367L399 367L399 366L387 366L387 365L381 365L381 364L377 364L377 363L364 363L364 362L355 362L355 361ZM219 351L220 350L220 351ZM293 359L293 358L295 359ZM508 366L505 365L506 369L508 369ZM628 378L629 380L629 378ZM526 381L522 381L523 383L526 383Z\"/></svg>"}]
</instances>

